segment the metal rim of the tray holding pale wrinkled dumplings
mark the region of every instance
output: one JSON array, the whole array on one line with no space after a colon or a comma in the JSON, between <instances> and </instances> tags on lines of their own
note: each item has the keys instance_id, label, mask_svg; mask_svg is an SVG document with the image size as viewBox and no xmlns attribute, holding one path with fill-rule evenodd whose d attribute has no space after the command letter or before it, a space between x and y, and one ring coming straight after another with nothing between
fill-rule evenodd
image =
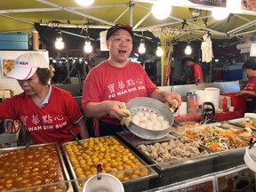
<instances>
[{"instance_id":1,"label":"metal rim of the tray holding pale wrinkled dumplings","mask_svg":"<svg viewBox=\"0 0 256 192\"><path fill-rule=\"evenodd\" d=\"M181 140L181 139L176 139L176 140ZM192 141L188 140L188 142L192 142ZM159 143L163 143L163 142L159 142ZM151 145L154 145L154 144L156 144L156 142L151 143ZM145 145L148 145L148 144L145 144ZM136 149L141 154L141 156L144 156L145 158L147 158L148 161L151 164L156 164L156 167L160 171L164 171L164 170L167 170L167 169L170 169L170 168L173 168L173 167L177 167L177 166L182 166L182 164L193 164L193 163L196 163L198 161L205 161L207 159L212 159L214 156L215 157L218 156L217 154L212 153L212 151L209 150L208 148L204 148L203 146L199 146L198 149L199 149L200 153L203 152L203 151L207 151L209 154L202 155L202 156L186 157L186 158L172 160L170 162L165 162L165 163L158 163L152 157L148 156L145 152L140 150L139 146L136 146Z\"/></svg>"}]
</instances>

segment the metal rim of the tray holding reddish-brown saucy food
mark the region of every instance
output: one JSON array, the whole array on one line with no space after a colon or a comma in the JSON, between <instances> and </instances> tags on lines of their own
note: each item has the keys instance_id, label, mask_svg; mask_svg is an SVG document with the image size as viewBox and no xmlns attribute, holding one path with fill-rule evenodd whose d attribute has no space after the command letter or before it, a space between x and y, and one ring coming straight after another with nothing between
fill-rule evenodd
<instances>
[{"instance_id":1,"label":"metal rim of the tray holding reddish-brown saucy food","mask_svg":"<svg viewBox=\"0 0 256 192\"><path fill-rule=\"evenodd\" d=\"M35 145L30 145L30 148L38 148L38 147L44 147L44 146L49 146L49 145L54 145L57 150L57 156L59 157L59 160L60 160L60 168L63 173L62 176L64 178L63 182L65 181L66 188L67 188L66 192L73 192L74 190L72 188L71 182L67 182L68 180L70 180L70 178L69 178L67 167L64 163L64 159L61 156L60 147L58 146L58 144L57 143L35 144ZM5 153L5 152L12 152L12 151L20 150L20 149L25 149L25 148L26 148L25 146L16 147L16 148L1 148L0 149L0 158L1 158L1 154ZM60 184L60 182L58 182L58 184ZM54 183L51 183L51 185L53 186ZM42 188L44 188L45 186L46 186L46 184L41 185L41 186L38 185L38 187L42 187Z\"/></svg>"}]
</instances>

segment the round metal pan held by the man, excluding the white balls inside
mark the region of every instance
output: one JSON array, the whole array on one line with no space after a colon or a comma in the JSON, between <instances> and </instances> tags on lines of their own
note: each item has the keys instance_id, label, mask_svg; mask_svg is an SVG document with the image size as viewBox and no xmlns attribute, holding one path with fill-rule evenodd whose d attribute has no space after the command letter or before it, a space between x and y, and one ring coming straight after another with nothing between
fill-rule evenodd
<instances>
[{"instance_id":1,"label":"round metal pan held by the man, excluding the white balls inside","mask_svg":"<svg viewBox=\"0 0 256 192\"><path fill-rule=\"evenodd\" d=\"M145 140L159 140L164 138L171 130L174 122L173 114L170 108L166 107L163 102L148 97L139 97L129 100L126 103L126 108L131 111L134 116L136 112L140 111L153 111L157 115L164 116L164 120L168 121L170 126L164 130L148 130L142 128L137 124L129 124L127 128L136 136Z\"/></svg>"}]
</instances>

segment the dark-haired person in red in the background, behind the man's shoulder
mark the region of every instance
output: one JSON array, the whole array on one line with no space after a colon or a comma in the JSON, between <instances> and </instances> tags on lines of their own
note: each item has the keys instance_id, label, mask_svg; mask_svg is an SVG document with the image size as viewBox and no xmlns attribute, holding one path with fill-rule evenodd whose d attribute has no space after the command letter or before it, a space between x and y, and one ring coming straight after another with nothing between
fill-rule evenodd
<instances>
[{"instance_id":1,"label":"dark-haired person in red in the background, behind the man's shoulder","mask_svg":"<svg viewBox=\"0 0 256 192\"><path fill-rule=\"evenodd\" d=\"M181 60L181 66L191 69L191 74L188 77L189 83L196 83L196 84L204 83L202 68L192 58L189 58L189 57L183 58Z\"/></svg>"}]
</instances>

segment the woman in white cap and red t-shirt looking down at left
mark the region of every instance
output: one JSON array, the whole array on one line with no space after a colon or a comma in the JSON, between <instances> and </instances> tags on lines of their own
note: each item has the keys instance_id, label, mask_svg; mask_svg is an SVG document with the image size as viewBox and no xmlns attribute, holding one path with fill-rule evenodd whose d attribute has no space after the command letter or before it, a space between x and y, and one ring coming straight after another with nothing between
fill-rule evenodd
<instances>
[{"instance_id":1,"label":"woman in white cap and red t-shirt looking down at left","mask_svg":"<svg viewBox=\"0 0 256 192\"><path fill-rule=\"evenodd\" d=\"M50 84L52 71L42 54L21 54L7 77L17 79L24 92L0 103L0 120L15 119L31 133L34 144L58 142L74 137L87 139L83 115L71 93Z\"/></svg>"}]
</instances>

